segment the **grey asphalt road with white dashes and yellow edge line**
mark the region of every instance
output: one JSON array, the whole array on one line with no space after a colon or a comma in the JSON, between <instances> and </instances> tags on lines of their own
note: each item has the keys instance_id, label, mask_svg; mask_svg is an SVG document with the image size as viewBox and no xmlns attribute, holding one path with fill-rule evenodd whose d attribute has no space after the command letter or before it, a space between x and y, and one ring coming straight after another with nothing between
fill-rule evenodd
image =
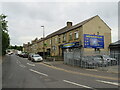
<instances>
[{"instance_id":1,"label":"grey asphalt road with white dashes and yellow edge line","mask_svg":"<svg viewBox=\"0 0 120 90\"><path fill-rule=\"evenodd\" d=\"M74 67L73 67L74 68ZM86 73L85 73L86 72ZM31 62L16 55L6 56L2 63L2 88L101 88L118 89L117 74L108 76L68 71ZM105 74L106 75L106 74Z\"/></svg>"}]
</instances>

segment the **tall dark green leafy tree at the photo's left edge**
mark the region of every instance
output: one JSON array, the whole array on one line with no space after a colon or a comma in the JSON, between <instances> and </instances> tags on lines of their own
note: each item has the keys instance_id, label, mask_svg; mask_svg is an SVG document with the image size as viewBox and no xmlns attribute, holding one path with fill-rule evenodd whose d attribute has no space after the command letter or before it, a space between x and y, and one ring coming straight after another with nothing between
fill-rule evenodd
<instances>
[{"instance_id":1,"label":"tall dark green leafy tree at the photo's left edge","mask_svg":"<svg viewBox=\"0 0 120 90\"><path fill-rule=\"evenodd\" d=\"M7 30L7 21L5 20L6 17L7 16L4 14L0 15L0 42L2 42L2 44L0 43L0 51L2 51L2 53L0 52L0 55L5 54L6 49L10 44L10 38Z\"/></svg>"}]
</instances>

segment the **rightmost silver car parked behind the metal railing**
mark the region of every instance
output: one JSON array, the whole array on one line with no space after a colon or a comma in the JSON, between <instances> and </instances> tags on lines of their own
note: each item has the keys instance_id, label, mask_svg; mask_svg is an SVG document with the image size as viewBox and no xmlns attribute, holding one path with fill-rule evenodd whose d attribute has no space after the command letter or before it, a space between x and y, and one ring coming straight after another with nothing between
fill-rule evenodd
<instances>
[{"instance_id":1,"label":"rightmost silver car parked behind the metal railing","mask_svg":"<svg viewBox=\"0 0 120 90\"><path fill-rule=\"evenodd\" d=\"M107 62L107 65L117 65L117 60L108 55L97 55L96 57L103 59L104 62Z\"/></svg>"}]
</instances>

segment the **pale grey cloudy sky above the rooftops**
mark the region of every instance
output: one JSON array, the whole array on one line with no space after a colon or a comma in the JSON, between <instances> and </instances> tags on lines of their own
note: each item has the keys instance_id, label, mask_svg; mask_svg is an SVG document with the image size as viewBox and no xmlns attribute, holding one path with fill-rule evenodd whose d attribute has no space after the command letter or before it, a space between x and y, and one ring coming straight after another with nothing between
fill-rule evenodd
<instances>
[{"instance_id":1,"label":"pale grey cloudy sky above the rooftops","mask_svg":"<svg viewBox=\"0 0 120 90\"><path fill-rule=\"evenodd\" d=\"M116 0L117 1L117 0ZM112 29L112 42L118 40L117 2L1 2L0 13L7 15L11 45L22 45L66 26L99 15Z\"/></svg>"}]
</instances>

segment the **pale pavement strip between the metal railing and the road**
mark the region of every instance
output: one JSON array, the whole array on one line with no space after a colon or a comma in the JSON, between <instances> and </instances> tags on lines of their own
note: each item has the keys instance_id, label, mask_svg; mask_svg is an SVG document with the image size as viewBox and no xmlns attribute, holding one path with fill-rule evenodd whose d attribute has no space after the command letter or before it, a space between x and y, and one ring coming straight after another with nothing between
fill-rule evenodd
<instances>
[{"instance_id":1,"label":"pale pavement strip between the metal railing and the road","mask_svg":"<svg viewBox=\"0 0 120 90\"><path fill-rule=\"evenodd\" d=\"M50 66L55 66L55 67L59 67L59 68L67 68L69 70L72 70L72 69L85 69L85 68L81 68L81 67L78 67L78 66L72 66L72 65L66 65L64 64L64 61L44 61L43 62L44 64L46 65L50 65ZM86 70L89 70L89 71L98 71L98 72L109 72L109 73L120 73L118 71L120 66L118 65L115 65L115 66L108 66L108 67L99 67L99 68L96 68L96 69L86 69Z\"/></svg>"}]
</instances>

